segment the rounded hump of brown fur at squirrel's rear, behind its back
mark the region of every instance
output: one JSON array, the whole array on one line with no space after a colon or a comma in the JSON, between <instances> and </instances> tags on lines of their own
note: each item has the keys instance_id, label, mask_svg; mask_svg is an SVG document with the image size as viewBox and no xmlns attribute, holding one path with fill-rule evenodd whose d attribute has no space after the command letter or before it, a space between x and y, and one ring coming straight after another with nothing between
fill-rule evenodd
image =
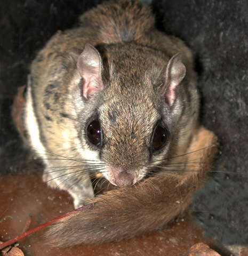
<instances>
[{"instance_id":1,"label":"rounded hump of brown fur at squirrel's rear, behind its back","mask_svg":"<svg viewBox=\"0 0 248 256\"><path fill-rule=\"evenodd\" d=\"M133 41L155 25L150 7L135 0L107 1L84 13L80 21L92 26L103 43Z\"/></svg>"}]
</instances>

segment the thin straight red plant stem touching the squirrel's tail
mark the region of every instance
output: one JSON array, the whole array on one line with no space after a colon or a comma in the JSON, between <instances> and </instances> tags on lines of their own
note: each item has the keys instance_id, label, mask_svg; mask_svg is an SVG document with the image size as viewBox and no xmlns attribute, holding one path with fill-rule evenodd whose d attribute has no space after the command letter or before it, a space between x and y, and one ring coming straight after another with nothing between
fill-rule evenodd
<instances>
[{"instance_id":1,"label":"thin straight red plant stem touching the squirrel's tail","mask_svg":"<svg viewBox=\"0 0 248 256\"><path fill-rule=\"evenodd\" d=\"M33 229L31 229L31 230L28 230L28 231L26 231L25 233L22 233L20 236L17 236L17 237L15 237L15 238L12 238L12 239L10 239L10 240L8 240L8 241L6 241L6 242L0 244L0 250L2 250L2 249L3 249L4 247L6 247L6 246L9 246L9 245L11 245L11 244L13 244L13 243L19 241L21 238L23 238L23 237L25 237L25 236L28 236L28 235L30 235L30 234L32 234L32 233L38 231L38 230L41 229L41 228L44 228L44 227L46 227L46 226L49 226L51 223L53 223L53 222L55 222L55 221L57 221L57 220L59 220L59 219L62 219L62 218L67 217L67 216L70 215L71 213L74 213L74 212L77 212L77 211L85 211L85 210L87 210L87 209L91 209L92 207L93 207L93 203L92 203L92 204L85 205L85 206L82 206L82 207L79 207L79 208L76 209L76 210L70 211L70 212L68 212L68 213L66 213L66 214L63 214L63 215L61 215L61 216L59 216L59 217L53 219L53 220L47 221L46 223L42 224L41 226L38 226L38 227L33 228Z\"/></svg>"}]
</instances>

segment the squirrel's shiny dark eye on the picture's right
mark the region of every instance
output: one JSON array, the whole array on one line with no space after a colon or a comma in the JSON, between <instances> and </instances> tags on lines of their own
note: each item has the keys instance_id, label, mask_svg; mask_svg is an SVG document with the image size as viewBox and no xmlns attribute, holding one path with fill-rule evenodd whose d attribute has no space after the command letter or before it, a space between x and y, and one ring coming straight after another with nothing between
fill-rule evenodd
<instances>
[{"instance_id":1,"label":"squirrel's shiny dark eye on the picture's right","mask_svg":"<svg viewBox=\"0 0 248 256\"><path fill-rule=\"evenodd\" d=\"M151 138L151 148L153 151L163 148L167 142L167 130L161 124L157 124Z\"/></svg>"}]
</instances>

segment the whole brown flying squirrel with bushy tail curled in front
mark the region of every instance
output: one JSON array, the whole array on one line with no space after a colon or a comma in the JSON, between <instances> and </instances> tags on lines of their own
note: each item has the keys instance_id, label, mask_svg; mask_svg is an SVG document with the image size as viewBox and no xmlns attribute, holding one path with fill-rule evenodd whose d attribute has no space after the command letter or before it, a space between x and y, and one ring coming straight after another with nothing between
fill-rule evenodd
<instances>
[{"instance_id":1,"label":"whole brown flying squirrel with bushy tail curled in front","mask_svg":"<svg viewBox=\"0 0 248 256\"><path fill-rule=\"evenodd\" d=\"M31 63L23 123L43 181L94 207L55 222L50 244L118 241L185 211L208 170L192 159L213 158L195 150L214 141L198 114L193 54L149 7L105 2L58 31ZM117 189L94 197L97 173Z\"/></svg>"}]
</instances>

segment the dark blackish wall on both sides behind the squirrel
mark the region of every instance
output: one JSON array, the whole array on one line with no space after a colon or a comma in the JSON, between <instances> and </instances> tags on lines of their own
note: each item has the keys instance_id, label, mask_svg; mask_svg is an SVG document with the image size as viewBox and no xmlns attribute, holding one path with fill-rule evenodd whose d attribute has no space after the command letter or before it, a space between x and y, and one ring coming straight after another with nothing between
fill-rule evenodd
<instances>
[{"instance_id":1,"label":"dark blackish wall on both sides behind the squirrel","mask_svg":"<svg viewBox=\"0 0 248 256\"><path fill-rule=\"evenodd\" d=\"M11 119L31 60L57 31L102 1L10 0L0 9L0 173L27 167ZM147 2L147 1L146 1ZM210 180L192 206L195 220L222 244L248 245L248 2L153 1L157 27L191 47L202 94L201 122L220 141ZM25 169L26 170L26 169Z\"/></svg>"}]
</instances>

